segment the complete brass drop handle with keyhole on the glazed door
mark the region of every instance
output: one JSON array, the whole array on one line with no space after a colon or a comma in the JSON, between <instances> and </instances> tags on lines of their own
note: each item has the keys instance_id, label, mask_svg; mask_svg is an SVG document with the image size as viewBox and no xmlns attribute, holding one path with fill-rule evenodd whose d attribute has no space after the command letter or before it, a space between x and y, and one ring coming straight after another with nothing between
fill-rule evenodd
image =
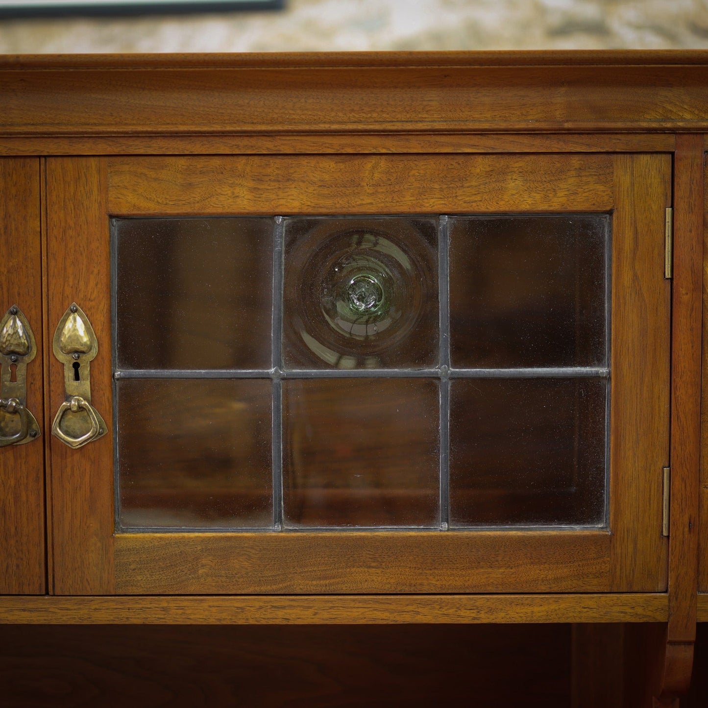
<instances>
[{"instance_id":1,"label":"complete brass drop handle with keyhole on the glazed door","mask_svg":"<svg viewBox=\"0 0 708 708\"><path fill-rule=\"evenodd\" d=\"M52 423L52 435L64 445L82 447L106 433L101 413L91 405L90 362L98 354L98 339L84 311L75 303L59 320L52 344L64 364L66 399Z\"/></svg>"}]
</instances>

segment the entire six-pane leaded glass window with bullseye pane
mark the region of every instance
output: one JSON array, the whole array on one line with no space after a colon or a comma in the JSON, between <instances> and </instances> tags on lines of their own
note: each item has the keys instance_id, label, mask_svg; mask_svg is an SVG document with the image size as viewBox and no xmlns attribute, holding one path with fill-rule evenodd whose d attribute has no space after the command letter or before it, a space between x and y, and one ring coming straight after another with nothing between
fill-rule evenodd
<instances>
[{"instance_id":1,"label":"entire six-pane leaded glass window with bullseye pane","mask_svg":"<svg viewBox=\"0 0 708 708\"><path fill-rule=\"evenodd\" d=\"M610 217L113 219L116 527L603 527Z\"/></svg>"}]
</instances>

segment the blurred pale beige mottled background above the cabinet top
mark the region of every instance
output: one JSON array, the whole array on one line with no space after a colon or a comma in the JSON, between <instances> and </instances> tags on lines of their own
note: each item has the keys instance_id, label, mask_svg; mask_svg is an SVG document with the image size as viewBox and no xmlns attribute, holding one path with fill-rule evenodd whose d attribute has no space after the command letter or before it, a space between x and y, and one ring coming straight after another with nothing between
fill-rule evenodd
<instances>
[{"instance_id":1,"label":"blurred pale beige mottled background above the cabinet top","mask_svg":"<svg viewBox=\"0 0 708 708\"><path fill-rule=\"evenodd\" d=\"M280 11L0 21L1 53L702 47L708 0L286 0Z\"/></svg>"}]
</instances>

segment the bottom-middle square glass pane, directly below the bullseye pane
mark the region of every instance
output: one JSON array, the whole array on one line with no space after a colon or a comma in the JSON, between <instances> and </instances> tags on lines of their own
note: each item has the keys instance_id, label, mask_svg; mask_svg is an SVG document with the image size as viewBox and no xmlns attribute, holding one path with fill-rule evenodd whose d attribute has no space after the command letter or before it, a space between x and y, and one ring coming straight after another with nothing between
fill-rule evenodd
<instances>
[{"instance_id":1,"label":"bottom-middle square glass pane, directly below the bullseye pane","mask_svg":"<svg viewBox=\"0 0 708 708\"><path fill-rule=\"evenodd\" d=\"M283 382L285 523L432 526L439 515L438 382Z\"/></svg>"}]
</instances>

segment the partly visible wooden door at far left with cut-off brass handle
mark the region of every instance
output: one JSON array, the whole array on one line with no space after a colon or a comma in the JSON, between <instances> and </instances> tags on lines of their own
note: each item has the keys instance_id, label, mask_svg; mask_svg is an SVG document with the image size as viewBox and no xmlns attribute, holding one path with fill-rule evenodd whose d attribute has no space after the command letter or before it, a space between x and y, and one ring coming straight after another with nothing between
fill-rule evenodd
<instances>
[{"instance_id":1,"label":"partly visible wooden door at far left with cut-off brass handle","mask_svg":"<svg viewBox=\"0 0 708 708\"><path fill-rule=\"evenodd\" d=\"M40 159L0 158L0 594L45 592Z\"/></svg>"}]
</instances>

